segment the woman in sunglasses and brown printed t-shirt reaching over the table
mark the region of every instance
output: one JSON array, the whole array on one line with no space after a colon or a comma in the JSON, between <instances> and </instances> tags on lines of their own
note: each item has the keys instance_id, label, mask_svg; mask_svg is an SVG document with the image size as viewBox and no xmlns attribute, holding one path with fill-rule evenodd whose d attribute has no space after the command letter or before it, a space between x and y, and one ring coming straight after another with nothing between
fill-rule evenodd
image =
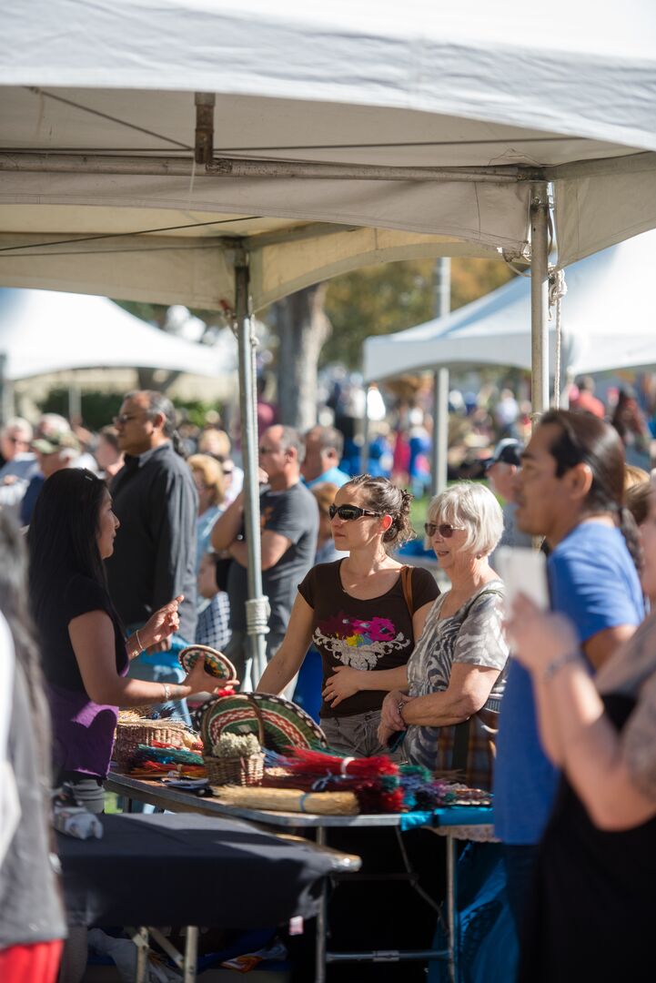
<instances>
[{"instance_id":1,"label":"woman in sunglasses and brown printed t-shirt reaching over the table","mask_svg":"<svg viewBox=\"0 0 656 983\"><path fill-rule=\"evenodd\" d=\"M331 526L349 556L313 567L299 585L285 640L257 689L280 693L312 643L323 663L321 726L336 750L385 751L376 731L387 692L406 684L406 665L439 590L426 570L389 550L411 535L408 492L385 478L360 475L335 496ZM411 607L411 610L410 610Z\"/></svg>"}]
</instances>

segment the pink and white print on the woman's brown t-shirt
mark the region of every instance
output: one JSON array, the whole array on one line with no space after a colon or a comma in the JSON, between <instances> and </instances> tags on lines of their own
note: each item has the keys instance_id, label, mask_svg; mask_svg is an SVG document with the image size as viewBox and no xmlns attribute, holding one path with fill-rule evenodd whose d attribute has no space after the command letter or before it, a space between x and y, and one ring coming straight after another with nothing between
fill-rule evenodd
<instances>
[{"instance_id":1,"label":"pink and white print on the woman's brown t-shirt","mask_svg":"<svg viewBox=\"0 0 656 983\"><path fill-rule=\"evenodd\" d=\"M375 668L383 656L408 649L411 644L388 617L361 620L344 611L319 621L312 642L355 669Z\"/></svg>"}]
</instances>

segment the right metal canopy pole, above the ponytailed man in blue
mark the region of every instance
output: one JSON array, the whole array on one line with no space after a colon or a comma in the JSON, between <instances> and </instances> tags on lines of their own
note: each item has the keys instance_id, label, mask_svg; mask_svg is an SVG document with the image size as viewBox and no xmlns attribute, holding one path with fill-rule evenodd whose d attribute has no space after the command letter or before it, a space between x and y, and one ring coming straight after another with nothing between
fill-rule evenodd
<instances>
[{"instance_id":1,"label":"right metal canopy pole, above the ponytailed man in blue","mask_svg":"<svg viewBox=\"0 0 656 983\"><path fill-rule=\"evenodd\" d=\"M530 334L532 418L549 408L549 192L534 184L530 202Z\"/></svg>"}]
</instances>

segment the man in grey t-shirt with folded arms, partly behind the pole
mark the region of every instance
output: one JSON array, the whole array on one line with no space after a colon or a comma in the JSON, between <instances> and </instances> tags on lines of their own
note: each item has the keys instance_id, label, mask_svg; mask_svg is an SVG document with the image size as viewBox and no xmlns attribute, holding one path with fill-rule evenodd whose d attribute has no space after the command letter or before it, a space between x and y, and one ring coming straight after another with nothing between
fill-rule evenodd
<instances>
[{"instance_id":1,"label":"man in grey t-shirt with folded arms, partly behind the pole","mask_svg":"<svg viewBox=\"0 0 656 983\"><path fill-rule=\"evenodd\" d=\"M269 427L262 434L259 463L261 478L267 483L259 499L262 586L271 605L267 660L275 655L285 637L297 585L312 566L316 549L319 510L313 494L301 482L303 453L302 437L292 427ZM228 572L232 637L226 655L243 682L248 659L244 537L244 492L240 492L217 520L212 547L227 551L234 561Z\"/></svg>"}]
</instances>

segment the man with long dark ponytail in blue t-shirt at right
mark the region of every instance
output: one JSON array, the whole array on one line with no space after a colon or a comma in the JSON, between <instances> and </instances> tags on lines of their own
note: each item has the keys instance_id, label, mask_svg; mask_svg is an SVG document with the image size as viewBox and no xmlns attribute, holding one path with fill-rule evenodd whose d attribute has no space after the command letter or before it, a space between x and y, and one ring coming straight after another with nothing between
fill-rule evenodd
<instances>
[{"instance_id":1,"label":"man with long dark ponytail in blue t-shirt at right","mask_svg":"<svg viewBox=\"0 0 656 983\"><path fill-rule=\"evenodd\" d=\"M581 654L594 672L630 638L644 613L631 555L637 534L624 507L622 441L589 413L552 411L521 462L519 528L545 537L551 607L574 622ZM511 660L497 737L494 812L518 923L557 781L540 745L530 676Z\"/></svg>"}]
</instances>

